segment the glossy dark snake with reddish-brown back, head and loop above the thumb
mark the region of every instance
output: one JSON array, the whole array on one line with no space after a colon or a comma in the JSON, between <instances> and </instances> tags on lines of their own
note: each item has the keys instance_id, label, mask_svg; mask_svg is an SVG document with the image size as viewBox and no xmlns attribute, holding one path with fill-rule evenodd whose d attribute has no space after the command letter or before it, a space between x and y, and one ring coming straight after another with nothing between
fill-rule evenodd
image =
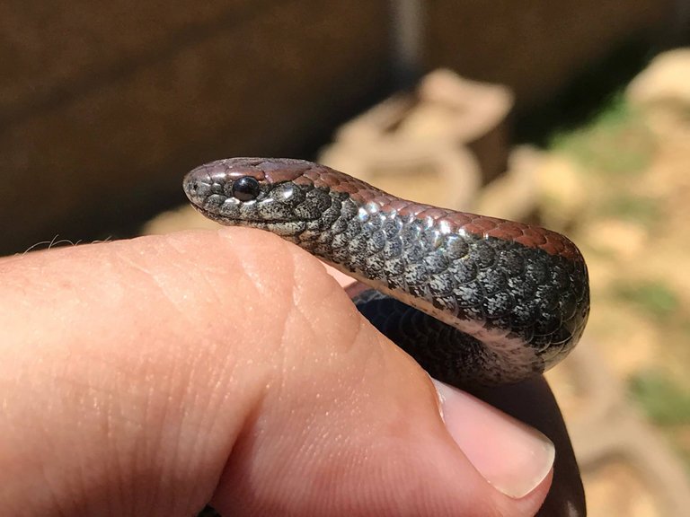
<instances>
[{"instance_id":1,"label":"glossy dark snake with reddish-brown back, head and loop above the thumb","mask_svg":"<svg viewBox=\"0 0 690 517\"><path fill-rule=\"evenodd\" d=\"M183 188L209 219L278 234L368 285L358 310L439 381L524 381L568 355L587 324L587 265L561 233L288 158L206 163Z\"/></svg>"}]
</instances>

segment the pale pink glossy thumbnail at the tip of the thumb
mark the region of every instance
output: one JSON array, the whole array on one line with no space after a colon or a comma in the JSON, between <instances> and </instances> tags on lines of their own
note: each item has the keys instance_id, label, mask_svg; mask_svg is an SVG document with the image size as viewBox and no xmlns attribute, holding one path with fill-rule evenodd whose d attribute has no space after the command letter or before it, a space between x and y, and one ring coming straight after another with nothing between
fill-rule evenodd
<instances>
[{"instance_id":1,"label":"pale pink glossy thumbnail at the tip of the thumb","mask_svg":"<svg viewBox=\"0 0 690 517\"><path fill-rule=\"evenodd\" d=\"M544 480L555 457L551 440L464 391L432 381L448 433L484 479L515 498Z\"/></svg>"}]
</instances>

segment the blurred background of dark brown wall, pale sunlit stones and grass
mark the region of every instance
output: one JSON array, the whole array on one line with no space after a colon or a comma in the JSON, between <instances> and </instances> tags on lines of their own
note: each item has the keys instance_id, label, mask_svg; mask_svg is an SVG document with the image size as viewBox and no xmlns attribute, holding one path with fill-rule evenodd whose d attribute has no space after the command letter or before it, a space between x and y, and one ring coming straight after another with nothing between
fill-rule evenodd
<instances>
[{"instance_id":1,"label":"blurred background of dark brown wall, pale sunlit stones and grass","mask_svg":"<svg viewBox=\"0 0 690 517\"><path fill-rule=\"evenodd\" d=\"M688 0L7 0L0 254L208 227L181 177L234 155L544 224L589 514L690 515L689 44Z\"/></svg>"}]
</instances>

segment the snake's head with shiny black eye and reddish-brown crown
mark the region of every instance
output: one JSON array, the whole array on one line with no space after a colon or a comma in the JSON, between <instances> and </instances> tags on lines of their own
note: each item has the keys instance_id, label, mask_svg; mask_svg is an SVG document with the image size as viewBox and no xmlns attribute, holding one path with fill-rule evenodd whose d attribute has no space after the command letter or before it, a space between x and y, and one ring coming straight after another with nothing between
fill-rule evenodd
<instances>
[{"instance_id":1,"label":"snake's head with shiny black eye and reddish-brown crown","mask_svg":"<svg viewBox=\"0 0 690 517\"><path fill-rule=\"evenodd\" d=\"M312 167L301 160L218 160L190 171L183 187L191 204L218 223L289 237L318 225L332 207L328 191L314 187Z\"/></svg>"}]
</instances>

